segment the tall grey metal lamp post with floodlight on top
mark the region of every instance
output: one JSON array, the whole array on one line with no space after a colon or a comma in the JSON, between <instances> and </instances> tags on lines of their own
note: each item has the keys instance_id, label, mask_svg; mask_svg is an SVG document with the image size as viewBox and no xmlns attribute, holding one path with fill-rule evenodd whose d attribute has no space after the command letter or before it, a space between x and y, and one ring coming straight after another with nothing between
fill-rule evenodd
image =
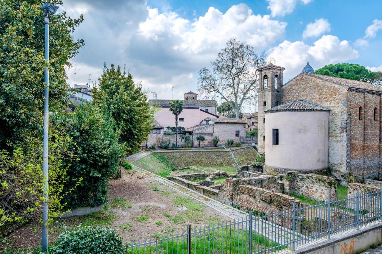
<instances>
[{"instance_id":1,"label":"tall grey metal lamp post with floodlight on top","mask_svg":"<svg viewBox=\"0 0 382 254\"><path fill-rule=\"evenodd\" d=\"M58 6L51 3L44 3L41 6L44 11L44 25L45 25L45 60L49 64L49 16L56 13ZM42 188L42 196L44 203L42 204L42 229L41 229L41 251L45 252L48 248L48 130L49 130L49 70L48 66L44 71L44 148L42 152L42 173L44 177L44 186Z\"/></svg>"}]
</instances>

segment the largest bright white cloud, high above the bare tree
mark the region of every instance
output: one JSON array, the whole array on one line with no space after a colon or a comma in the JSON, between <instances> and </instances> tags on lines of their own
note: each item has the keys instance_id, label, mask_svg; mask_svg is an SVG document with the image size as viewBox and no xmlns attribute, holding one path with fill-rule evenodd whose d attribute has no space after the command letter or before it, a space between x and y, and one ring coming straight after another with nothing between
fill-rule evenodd
<instances>
[{"instance_id":1,"label":"largest bright white cloud, high above the bare tree","mask_svg":"<svg viewBox=\"0 0 382 254\"><path fill-rule=\"evenodd\" d=\"M253 14L245 4L233 5L226 13L210 7L191 23L175 12L159 13L148 7L149 16L139 24L139 34L147 39L172 38L173 49L189 53L217 52L231 37L261 49L283 36L287 23Z\"/></svg>"}]
</instances>

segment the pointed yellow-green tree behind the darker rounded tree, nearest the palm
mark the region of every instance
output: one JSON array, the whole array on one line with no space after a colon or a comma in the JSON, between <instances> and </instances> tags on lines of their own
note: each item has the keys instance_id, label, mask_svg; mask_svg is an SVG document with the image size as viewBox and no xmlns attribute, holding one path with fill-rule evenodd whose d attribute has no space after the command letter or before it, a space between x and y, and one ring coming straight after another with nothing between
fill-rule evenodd
<instances>
[{"instance_id":1,"label":"pointed yellow-green tree behind the darker rounded tree, nearest the palm","mask_svg":"<svg viewBox=\"0 0 382 254\"><path fill-rule=\"evenodd\" d=\"M136 153L154 122L142 84L135 84L131 74L126 75L120 66L114 68L114 64L110 69L104 64L104 73L98 80L99 88L93 90L93 102L117 123L125 155Z\"/></svg>"}]
</instances>

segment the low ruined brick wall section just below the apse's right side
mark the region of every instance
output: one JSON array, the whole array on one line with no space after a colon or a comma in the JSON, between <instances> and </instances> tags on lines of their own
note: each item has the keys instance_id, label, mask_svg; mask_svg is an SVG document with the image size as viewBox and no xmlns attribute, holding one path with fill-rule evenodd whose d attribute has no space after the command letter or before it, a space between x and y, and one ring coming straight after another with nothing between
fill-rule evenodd
<instances>
[{"instance_id":1,"label":"low ruined brick wall section just below the apse's right side","mask_svg":"<svg viewBox=\"0 0 382 254\"><path fill-rule=\"evenodd\" d=\"M337 199L337 181L332 177L288 171L285 172L283 183L284 193L314 200L327 200L329 196L331 200Z\"/></svg>"}]
</instances>

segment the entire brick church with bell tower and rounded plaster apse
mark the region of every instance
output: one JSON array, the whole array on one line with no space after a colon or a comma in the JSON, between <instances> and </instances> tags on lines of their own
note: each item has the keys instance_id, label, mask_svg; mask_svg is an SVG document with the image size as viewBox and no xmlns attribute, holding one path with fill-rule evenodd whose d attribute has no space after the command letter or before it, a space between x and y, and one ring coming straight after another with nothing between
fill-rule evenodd
<instances>
[{"instance_id":1,"label":"entire brick church with bell tower and rounded plaster apse","mask_svg":"<svg viewBox=\"0 0 382 254\"><path fill-rule=\"evenodd\" d=\"M341 181L381 179L382 88L314 74L308 64L283 84L285 68L258 69L258 152L264 172L330 168Z\"/></svg>"}]
</instances>

